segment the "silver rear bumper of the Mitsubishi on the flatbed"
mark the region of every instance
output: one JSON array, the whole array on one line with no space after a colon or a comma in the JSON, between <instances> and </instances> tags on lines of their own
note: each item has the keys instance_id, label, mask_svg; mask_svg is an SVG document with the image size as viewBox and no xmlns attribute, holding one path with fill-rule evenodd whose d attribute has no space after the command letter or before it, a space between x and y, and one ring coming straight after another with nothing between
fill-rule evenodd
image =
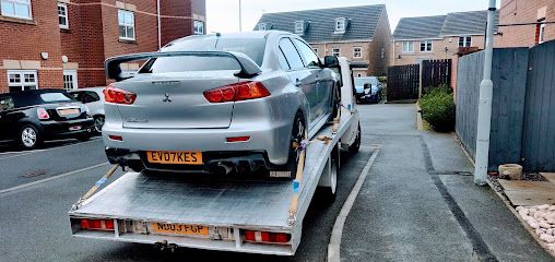
<instances>
[{"instance_id":1,"label":"silver rear bumper of the Mitsubishi on the flatbed","mask_svg":"<svg viewBox=\"0 0 555 262\"><path fill-rule=\"evenodd\" d=\"M267 165L285 165L291 126L248 123L232 124L228 129L123 129L105 124L103 139L108 158L126 155L130 159L144 159L142 154L145 151L186 151L202 152L212 159L237 157L236 160L250 160L256 155L257 162L263 158ZM109 135L119 135L122 141L113 141ZM250 140L227 142L227 138L236 136L250 136Z\"/></svg>"}]
</instances>

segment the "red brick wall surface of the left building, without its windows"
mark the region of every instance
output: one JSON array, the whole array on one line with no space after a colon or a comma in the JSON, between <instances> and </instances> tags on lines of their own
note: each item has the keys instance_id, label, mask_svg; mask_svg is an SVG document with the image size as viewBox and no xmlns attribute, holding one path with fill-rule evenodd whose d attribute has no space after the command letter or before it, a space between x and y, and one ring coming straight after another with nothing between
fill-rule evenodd
<instances>
[{"instance_id":1,"label":"red brick wall surface of the left building, without its windows","mask_svg":"<svg viewBox=\"0 0 555 262\"><path fill-rule=\"evenodd\" d=\"M63 87L63 69L76 70L80 87L106 85L108 57L158 49L156 0L60 0L67 2L69 29L58 25L54 0L32 0L32 21L0 16L0 93L8 92L8 69L39 63L39 88ZM118 9L134 12L135 40L119 39ZM161 0L163 44L192 34L192 20L205 21L204 0ZM166 26L166 27L164 27ZM8 37L3 37L8 36ZM48 60L40 58L48 52ZM62 63L62 56L68 58ZM3 64L9 60L11 68ZM14 62L15 61L15 62Z\"/></svg>"}]
</instances>

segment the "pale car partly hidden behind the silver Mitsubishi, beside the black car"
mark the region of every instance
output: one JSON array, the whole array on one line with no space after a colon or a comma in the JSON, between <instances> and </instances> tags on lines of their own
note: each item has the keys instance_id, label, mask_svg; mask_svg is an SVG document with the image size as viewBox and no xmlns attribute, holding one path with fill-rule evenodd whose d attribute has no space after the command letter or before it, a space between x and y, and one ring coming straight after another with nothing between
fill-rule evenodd
<instances>
[{"instance_id":1,"label":"pale car partly hidden behind the silver Mitsubishi, beside the black car","mask_svg":"<svg viewBox=\"0 0 555 262\"><path fill-rule=\"evenodd\" d=\"M94 130L97 133L102 132L104 126L104 88L90 87L70 91L70 94L76 100L85 104L88 108L91 116L94 118Z\"/></svg>"}]
</instances>

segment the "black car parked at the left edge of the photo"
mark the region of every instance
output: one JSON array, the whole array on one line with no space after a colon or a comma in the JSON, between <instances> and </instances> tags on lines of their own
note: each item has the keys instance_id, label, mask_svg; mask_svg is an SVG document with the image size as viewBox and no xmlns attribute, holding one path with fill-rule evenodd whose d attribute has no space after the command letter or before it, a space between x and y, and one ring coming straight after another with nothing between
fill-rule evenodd
<instances>
[{"instance_id":1,"label":"black car parked at the left edge of the photo","mask_svg":"<svg viewBox=\"0 0 555 262\"><path fill-rule=\"evenodd\" d=\"M44 141L91 139L94 120L88 109L61 90L0 94L0 143L35 148Z\"/></svg>"}]
</instances>

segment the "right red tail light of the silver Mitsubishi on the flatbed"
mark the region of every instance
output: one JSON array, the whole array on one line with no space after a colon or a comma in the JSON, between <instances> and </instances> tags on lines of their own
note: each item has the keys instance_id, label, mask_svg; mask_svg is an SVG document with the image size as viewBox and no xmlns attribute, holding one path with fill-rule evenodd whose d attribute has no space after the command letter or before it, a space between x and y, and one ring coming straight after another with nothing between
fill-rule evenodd
<instances>
[{"instance_id":1,"label":"right red tail light of the silver Mitsubishi on the flatbed","mask_svg":"<svg viewBox=\"0 0 555 262\"><path fill-rule=\"evenodd\" d=\"M204 92L204 97L210 103L226 103L262 98L270 92L260 82L240 82Z\"/></svg>"}]
</instances>

